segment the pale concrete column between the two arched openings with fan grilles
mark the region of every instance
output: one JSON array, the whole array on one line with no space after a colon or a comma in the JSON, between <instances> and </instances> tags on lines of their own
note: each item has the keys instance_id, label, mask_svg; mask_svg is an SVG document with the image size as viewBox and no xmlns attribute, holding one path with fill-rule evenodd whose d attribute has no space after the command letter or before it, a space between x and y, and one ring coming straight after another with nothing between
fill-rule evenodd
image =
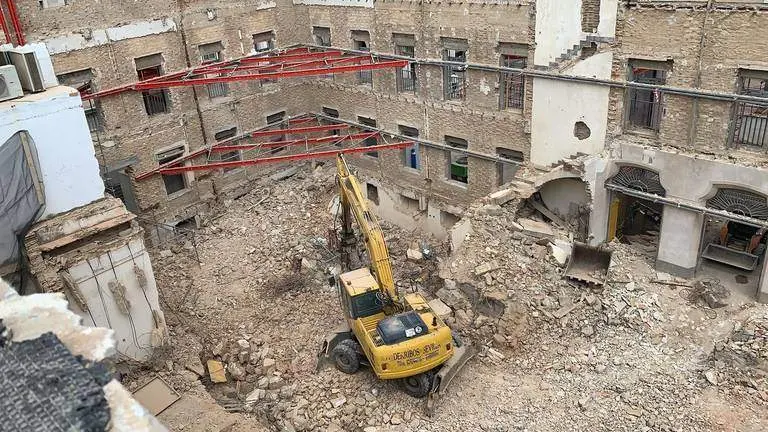
<instances>
[{"instance_id":1,"label":"pale concrete column between the two arched openings with fan grilles","mask_svg":"<svg viewBox=\"0 0 768 432\"><path fill-rule=\"evenodd\" d=\"M704 215L664 206L656 269L675 276L693 277L699 259Z\"/></svg>"}]
</instances>

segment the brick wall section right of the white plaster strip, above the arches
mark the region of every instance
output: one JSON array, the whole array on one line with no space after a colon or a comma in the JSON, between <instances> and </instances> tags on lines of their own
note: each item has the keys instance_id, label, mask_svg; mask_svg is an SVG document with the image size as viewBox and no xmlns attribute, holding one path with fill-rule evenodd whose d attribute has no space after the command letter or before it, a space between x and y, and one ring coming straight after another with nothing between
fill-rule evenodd
<instances>
[{"instance_id":1,"label":"brick wall section right of the white plaster strip, above the arches","mask_svg":"<svg viewBox=\"0 0 768 432\"><path fill-rule=\"evenodd\" d=\"M754 29L768 26L768 11L699 8L632 8L620 10L613 78L626 79L629 59L672 61L667 84L725 93L737 89L739 68L768 68L768 45ZM702 43L703 40L703 43ZM635 139L624 131L626 92L611 91L610 122L614 136ZM663 96L663 118L650 142L728 158L732 103L687 96ZM648 142L649 137L637 138ZM764 153L749 153L764 159Z\"/></svg>"}]
</instances>

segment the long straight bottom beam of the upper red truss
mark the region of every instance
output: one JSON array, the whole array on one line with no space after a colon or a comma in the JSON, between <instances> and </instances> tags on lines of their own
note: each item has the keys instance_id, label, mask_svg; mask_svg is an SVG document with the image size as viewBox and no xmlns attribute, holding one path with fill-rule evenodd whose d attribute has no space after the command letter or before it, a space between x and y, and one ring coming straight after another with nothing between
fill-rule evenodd
<instances>
[{"instance_id":1,"label":"long straight bottom beam of the upper red truss","mask_svg":"<svg viewBox=\"0 0 768 432\"><path fill-rule=\"evenodd\" d=\"M408 65L407 60L391 60L380 63L359 64L350 66L332 66L328 68L304 69L297 71L283 71L263 74L232 75L210 78L191 78L186 80L173 80L162 82L139 82L134 85L135 90L153 90L173 87L188 87L193 85L206 85L220 82L238 82L260 79L289 78L298 76L326 75L343 72L357 72L373 69L402 68Z\"/></svg>"}]
</instances>

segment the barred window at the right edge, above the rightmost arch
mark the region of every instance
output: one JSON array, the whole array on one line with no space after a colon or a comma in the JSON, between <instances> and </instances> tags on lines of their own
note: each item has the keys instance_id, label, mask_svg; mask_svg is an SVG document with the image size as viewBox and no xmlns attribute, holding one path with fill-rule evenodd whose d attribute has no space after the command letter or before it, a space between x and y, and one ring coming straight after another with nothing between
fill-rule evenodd
<instances>
[{"instance_id":1,"label":"barred window at the right edge, above the rightmost arch","mask_svg":"<svg viewBox=\"0 0 768 432\"><path fill-rule=\"evenodd\" d=\"M766 98L766 104L737 102L731 142L737 146L768 146L768 72L739 70L739 94Z\"/></svg>"}]
</instances>

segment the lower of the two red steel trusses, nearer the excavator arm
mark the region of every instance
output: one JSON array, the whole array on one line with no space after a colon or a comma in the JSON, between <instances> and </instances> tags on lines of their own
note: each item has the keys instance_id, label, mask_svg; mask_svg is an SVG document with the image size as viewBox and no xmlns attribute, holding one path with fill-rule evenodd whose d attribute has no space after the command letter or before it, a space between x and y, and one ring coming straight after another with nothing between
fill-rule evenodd
<instances>
[{"instance_id":1,"label":"lower of the two red steel trusses, nearer the excavator arm","mask_svg":"<svg viewBox=\"0 0 768 432\"><path fill-rule=\"evenodd\" d=\"M316 125L311 125L316 123ZM380 138L378 131L361 131L359 133L348 133L343 135L330 136L308 136L309 134L323 133L326 131L343 131L349 129L348 124L320 124L321 120L312 115L301 115L288 119L286 127L280 129L267 129L275 127L274 125L246 133L228 140L220 141L210 147L204 147L188 155L160 165L152 171L136 176L136 180L143 180L158 174L179 174L189 171L211 171L223 168L236 168L253 166L267 163L278 163L288 161L298 161L307 159L322 159L335 157L339 153L370 153L380 150L403 149L413 145L413 141L400 141L394 143L385 143L378 145L361 145L361 143L370 138ZM308 125L310 124L310 125ZM290 136L291 139L280 141L269 141L270 137ZM241 141L249 140L251 142L241 144ZM265 141L260 141L265 140ZM322 149L323 145L339 145L331 149ZM345 146L346 145L346 146ZM295 149L304 147L303 152L297 152L287 155L273 156L267 153L266 156L236 160L236 161L217 161L211 160L210 155L214 153L225 153L233 151L256 151L275 150L275 149ZM182 165L183 163L195 160L194 164Z\"/></svg>"}]
</instances>

